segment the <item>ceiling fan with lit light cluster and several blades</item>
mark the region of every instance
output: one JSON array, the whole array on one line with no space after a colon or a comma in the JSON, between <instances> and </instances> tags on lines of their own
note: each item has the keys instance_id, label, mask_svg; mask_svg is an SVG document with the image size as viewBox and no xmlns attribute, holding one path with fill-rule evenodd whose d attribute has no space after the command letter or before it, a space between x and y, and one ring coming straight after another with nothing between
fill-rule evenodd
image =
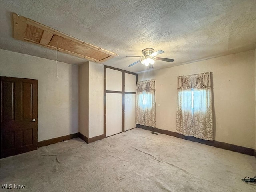
<instances>
[{"instance_id":1,"label":"ceiling fan with lit light cluster and several blades","mask_svg":"<svg viewBox=\"0 0 256 192\"><path fill-rule=\"evenodd\" d=\"M153 68L153 64L155 63L155 60L161 60L161 61L167 61L167 62L173 62L173 59L168 59L168 58L162 58L162 57L156 57L159 54L164 53L162 50L158 50L154 52L154 49L152 48L146 48L142 50L142 54L144 56L133 56L133 55L128 55L126 57L140 57L142 58L141 60L138 60L132 64L130 64L128 67L131 67L139 62L141 62L145 66L149 66L150 68Z\"/></svg>"}]
</instances>

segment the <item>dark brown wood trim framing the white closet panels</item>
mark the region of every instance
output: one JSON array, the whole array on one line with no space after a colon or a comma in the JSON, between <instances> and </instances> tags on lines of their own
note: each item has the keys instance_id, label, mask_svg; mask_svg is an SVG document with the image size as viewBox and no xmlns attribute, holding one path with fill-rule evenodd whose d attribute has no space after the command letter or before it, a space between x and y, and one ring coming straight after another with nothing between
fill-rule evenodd
<instances>
[{"instance_id":1,"label":"dark brown wood trim framing the white closet panels","mask_svg":"<svg viewBox=\"0 0 256 192\"><path fill-rule=\"evenodd\" d=\"M117 70L117 71L121 71L122 72L122 91L108 91L106 90L106 71L107 68L109 69L113 69L113 70ZM137 73L133 73L130 71L126 71L126 70L122 70L122 69L118 69L115 67L110 67L110 66L106 66L104 65L104 82L103 82L103 86L104 86L104 93L103 93L103 98L104 98L104 112L103 112L103 116L104 116L104 120L103 120L103 127L104 127L104 137L106 137L106 93L122 93L122 132L124 132L124 112L125 112L125 106L124 106L124 96L125 94L136 94L136 92L126 92L125 91L125 73L128 74L132 74L136 76L136 84L138 82L138 74Z\"/></svg>"}]
</instances>

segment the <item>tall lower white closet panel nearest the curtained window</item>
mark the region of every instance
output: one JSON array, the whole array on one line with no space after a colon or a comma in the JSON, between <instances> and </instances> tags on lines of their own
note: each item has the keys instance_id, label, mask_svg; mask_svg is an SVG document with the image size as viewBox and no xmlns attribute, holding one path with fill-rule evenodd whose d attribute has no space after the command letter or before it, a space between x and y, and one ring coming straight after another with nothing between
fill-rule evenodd
<instances>
[{"instance_id":1,"label":"tall lower white closet panel nearest the curtained window","mask_svg":"<svg viewBox=\"0 0 256 192\"><path fill-rule=\"evenodd\" d=\"M124 130L136 127L136 94L125 94L124 95Z\"/></svg>"}]
</instances>

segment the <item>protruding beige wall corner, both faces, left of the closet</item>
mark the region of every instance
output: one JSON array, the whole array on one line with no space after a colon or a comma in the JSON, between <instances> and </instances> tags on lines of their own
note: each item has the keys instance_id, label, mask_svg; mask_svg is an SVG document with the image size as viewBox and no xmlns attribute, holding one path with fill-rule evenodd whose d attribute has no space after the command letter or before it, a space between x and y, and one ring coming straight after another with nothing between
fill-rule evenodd
<instances>
[{"instance_id":1,"label":"protruding beige wall corner, both faces, left of the closet","mask_svg":"<svg viewBox=\"0 0 256 192\"><path fill-rule=\"evenodd\" d=\"M88 138L104 134L103 76L102 64L79 66L79 132Z\"/></svg>"}]
</instances>

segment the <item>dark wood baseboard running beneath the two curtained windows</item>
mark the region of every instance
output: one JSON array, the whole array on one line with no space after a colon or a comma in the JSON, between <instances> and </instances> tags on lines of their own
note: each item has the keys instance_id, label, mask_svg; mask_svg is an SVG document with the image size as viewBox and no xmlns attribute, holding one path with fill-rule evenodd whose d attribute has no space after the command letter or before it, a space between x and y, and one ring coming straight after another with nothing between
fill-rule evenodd
<instances>
[{"instance_id":1,"label":"dark wood baseboard running beneath the two curtained windows","mask_svg":"<svg viewBox=\"0 0 256 192\"><path fill-rule=\"evenodd\" d=\"M136 124L136 126L138 128L150 130L150 131L161 133L161 134L170 135L170 136L173 136L173 137L178 137L178 138L181 138L181 139L190 140L190 141L193 141L193 142L198 142L198 143L205 144L205 145L210 145L210 146L214 146L214 147L217 147L217 148L222 148L222 149L226 149L226 150L230 150L230 151L234 151L234 152L238 152L238 153L243 153L243 154L246 154L246 155L256 156L256 152L252 148L242 147L242 146L233 145L233 144L229 144L229 143L224 143L224 142L220 142L220 141L208 141L208 140L198 139L198 138L195 138L193 136L184 136L184 135L176 133L176 132L172 132L172 131L168 131L168 130L162 130L162 129L153 128L153 127L148 127L148 126L145 126L145 125Z\"/></svg>"}]
</instances>

